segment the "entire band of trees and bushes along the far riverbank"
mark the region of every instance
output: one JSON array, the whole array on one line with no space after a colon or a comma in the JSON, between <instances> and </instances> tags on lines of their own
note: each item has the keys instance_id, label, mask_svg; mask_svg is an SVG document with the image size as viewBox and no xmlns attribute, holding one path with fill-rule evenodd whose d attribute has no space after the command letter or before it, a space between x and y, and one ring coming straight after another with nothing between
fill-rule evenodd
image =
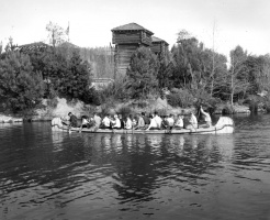
<instances>
[{"instance_id":1,"label":"entire band of trees and bushes along the far riverbank","mask_svg":"<svg viewBox=\"0 0 270 220\"><path fill-rule=\"evenodd\" d=\"M49 29L54 34L56 30ZM139 47L126 75L117 76L112 47L79 48L52 42L44 50L20 52L10 40L0 54L1 112L31 112L44 108L44 99L55 107L56 97L103 105L103 109L117 103L143 109L161 98L173 108L202 105L214 112L222 105L232 113L237 103L270 111L269 54L257 56L236 46L226 57L181 31L170 52L155 55ZM91 87L94 77L114 82L95 90Z\"/></svg>"}]
</instances>

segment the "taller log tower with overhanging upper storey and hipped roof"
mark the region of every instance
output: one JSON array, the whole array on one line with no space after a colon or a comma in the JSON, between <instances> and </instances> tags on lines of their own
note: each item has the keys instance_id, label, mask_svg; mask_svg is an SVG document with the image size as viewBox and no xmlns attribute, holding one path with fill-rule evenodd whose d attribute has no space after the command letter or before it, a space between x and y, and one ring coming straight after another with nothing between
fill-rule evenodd
<instances>
[{"instance_id":1,"label":"taller log tower with overhanging upper storey and hipped roof","mask_svg":"<svg viewBox=\"0 0 270 220\"><path fill-rule=\"evenodd\" d=\"M115 77L126 74L131 56L138 47L151 46L153 34L153 32L136 23L112 29L112 43L115 44Z\"/></svg>"}]
</instances>

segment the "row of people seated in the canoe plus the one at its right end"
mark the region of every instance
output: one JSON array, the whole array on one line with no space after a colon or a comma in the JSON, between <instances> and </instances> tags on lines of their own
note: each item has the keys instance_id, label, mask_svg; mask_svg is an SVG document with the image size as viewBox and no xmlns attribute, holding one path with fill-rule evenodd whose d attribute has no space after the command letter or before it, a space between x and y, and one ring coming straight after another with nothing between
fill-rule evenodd
<instances>
[{"instance_id":1,"label":"row of people seated in the canoe plus the one at its right end","mask_svg":"<svg viewBox=\"0 0 270 220\"><path fill-rule=\"evenodd\" d=\"M200 127L212 127L212 119L207 112L200 107L200 113L203 116L204 123ZM63 124L69 128L87 128L87 129L126 129L126 130L160 130L160 129L198 129L198 119L193 112L189 114L169 114L159 116L158 112L146 114L145 112L137 113L136 116L130 114L122 117L122 114L105 114L103 118L99 113L92 117L82 116L80 120L72 114L61 118Z\"/></svg>"}]
</instances>

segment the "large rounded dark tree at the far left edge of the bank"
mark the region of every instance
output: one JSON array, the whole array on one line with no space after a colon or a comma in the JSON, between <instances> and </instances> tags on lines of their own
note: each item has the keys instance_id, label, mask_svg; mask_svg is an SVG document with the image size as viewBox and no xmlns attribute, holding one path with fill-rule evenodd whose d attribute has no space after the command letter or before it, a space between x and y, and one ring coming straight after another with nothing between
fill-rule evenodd
<instances>
[{"instance_id":1,"label":"large rounded dark tree at the far left edge of the bank","mask_svg":"<svg viewBox=\"0 0 270 220\"><path fill-rule=\"evenodd\" d=\"M0 61L0 97L13 111L32 109L44 94L41 74L33 72L30 57L9 52Z\"/></svg>"}]
</instances>

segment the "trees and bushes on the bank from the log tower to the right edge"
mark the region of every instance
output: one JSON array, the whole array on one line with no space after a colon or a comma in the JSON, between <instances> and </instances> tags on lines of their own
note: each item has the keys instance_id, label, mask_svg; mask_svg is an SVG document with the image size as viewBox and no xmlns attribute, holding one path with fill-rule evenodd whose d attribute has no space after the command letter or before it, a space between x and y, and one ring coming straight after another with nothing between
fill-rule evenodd
<instances>
[{"instance_id":1,"label":"trees and bushes on the bank from the log tower to the right edge","mask_svg":"<svg viewBox=\"0 0 270 220\"><path fill-rule=\"evenodd\" d=\"M161 97L175 108L202 105L214 112L223 106L233 113L246 105L251 111L269 111L270 55L256 56L236 46L228 58L182 31L169 56L138 48L126 76L102 91L103 101L132 99L144 106Z\"/></svg>"}]
</instances>

